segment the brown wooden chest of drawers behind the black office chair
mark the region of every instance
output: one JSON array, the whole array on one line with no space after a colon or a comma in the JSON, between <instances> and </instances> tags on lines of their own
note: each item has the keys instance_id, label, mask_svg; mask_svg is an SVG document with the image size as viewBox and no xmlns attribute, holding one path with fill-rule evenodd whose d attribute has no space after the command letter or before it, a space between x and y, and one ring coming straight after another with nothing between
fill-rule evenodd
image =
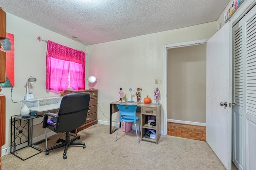
<instances>
[{"instance_id":1,"label":"brown wooden chest of drawers behind the black office chair","mask_svg":"<svg viewBox=\"0 0 256 170\"><path fill-rule=\"evenodd\" d=\"M98 123L98 119L97 119L98 90L65 90L64 94L69 94L73 92L89 92L91 95L90 105L89 105L91 109L88 110L88 115L84 125L78 127L77 132L79 132L82 129L86 129L91 125ZM71 131L71 132L74 133L74 131Z\"/></svg>"}]
</instances>

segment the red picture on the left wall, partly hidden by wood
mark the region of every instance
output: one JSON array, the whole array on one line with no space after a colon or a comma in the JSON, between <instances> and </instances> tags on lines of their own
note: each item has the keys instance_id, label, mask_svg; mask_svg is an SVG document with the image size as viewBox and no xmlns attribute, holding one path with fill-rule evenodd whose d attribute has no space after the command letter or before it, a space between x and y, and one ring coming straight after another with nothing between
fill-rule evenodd
<instances>
[{"instance_id":1,"label":"red picture on the left wall, partly hidden by wood","mask_svg":"<svg viewBox=\"0 0 256 170\"><path fill-rule=\"evenodd\" d=\"M0 49L6 52L6 82L0 83L2 87L14 86L14 35L6 33L6 39L1 41Z\"/></svg>"}]
</instances>

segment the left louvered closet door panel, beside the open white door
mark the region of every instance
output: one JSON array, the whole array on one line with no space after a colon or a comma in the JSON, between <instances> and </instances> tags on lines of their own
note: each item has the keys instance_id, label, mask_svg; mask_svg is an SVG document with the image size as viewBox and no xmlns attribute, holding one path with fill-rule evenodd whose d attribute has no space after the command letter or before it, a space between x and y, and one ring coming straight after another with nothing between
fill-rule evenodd
<instances>
[{"instance_id":1,"label":"left louvered closet door panel, beside the open white door","mask_svg":"<svg viewBox=\"0 0 256 170\"><path fill-rule=\"evenodd\" d=\"M233 153L232 160L238 169L244 164L244 50L245 37L242 21L233 27L233 98L236 106L232 109Z\"/></svg>"}]
</instances>

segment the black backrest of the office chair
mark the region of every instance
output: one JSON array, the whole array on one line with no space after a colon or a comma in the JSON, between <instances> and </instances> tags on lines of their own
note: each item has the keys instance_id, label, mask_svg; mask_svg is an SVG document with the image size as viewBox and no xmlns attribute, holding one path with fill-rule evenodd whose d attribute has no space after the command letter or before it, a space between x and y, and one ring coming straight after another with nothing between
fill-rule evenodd
<instances>
[{"instance_id":1,"label":"black backrest of the office chair","mask_svg":"<svg viewBox=\"0 0 256 170\"><path fill-rule=\"evenodd\" d=\"M86 122L89 104L88 92L66 94L60 103L56 131L72 131L83 125Z\"/></svg>"}]
</instances>

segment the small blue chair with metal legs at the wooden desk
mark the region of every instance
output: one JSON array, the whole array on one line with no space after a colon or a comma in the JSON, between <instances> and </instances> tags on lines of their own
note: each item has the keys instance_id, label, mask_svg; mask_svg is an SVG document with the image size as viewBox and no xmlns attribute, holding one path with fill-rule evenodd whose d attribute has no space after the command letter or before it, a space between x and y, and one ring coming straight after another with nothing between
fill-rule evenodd
<instances>
[{"instance_id":1,"label":"small blue chair with metal legs at the wooden desk","mask_svg":"<svg viewBox=\"0 0 256 170\"><path fill-rule=\"evenodd\" d=\"M117 135L118 135L118 131L119 131L121 121L133 122L134 125L135 125L135 130L136 130L137 144L139 145L138 132L137 132L137 126L136 126L136 121L139 120L139 117L136 116L137 105L117 104L117 107L119 109L119 125L118 125L118 129L117 129L117 132L116 132L116 138L117 138ZM138 121L138 122L139 122L139 131L140 131L140 121ZM125 131L126 131L126 129L125 129ZM116 141L116 139L115 139L115 141Z\"/></svg>"}]
</instances>

